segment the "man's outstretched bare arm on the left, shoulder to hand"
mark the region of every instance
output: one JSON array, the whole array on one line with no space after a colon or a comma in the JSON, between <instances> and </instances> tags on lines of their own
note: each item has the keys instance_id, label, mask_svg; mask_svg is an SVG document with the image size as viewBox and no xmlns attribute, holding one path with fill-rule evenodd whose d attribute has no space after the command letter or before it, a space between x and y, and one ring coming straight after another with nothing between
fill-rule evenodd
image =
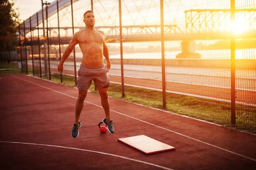
<instances>
[{"instance_id":1,"label":"man's outstretched bare arm on the left, shoulder to hand","mask_svg":"<svg viewBox=\"0 0 256 170\"><path fill-rule=\"evenodd\" d=\"M64 53L63 53L63 55L61 57L60 63L58 64L58 72L63 71L63 64L66 61L66 59L69 57L70 53L75 48L76 44L78 44L77 34L74 34L73 37L72 37L72 40L68 44L66 50L64 51Z\"/></svg>"}]
</instances>

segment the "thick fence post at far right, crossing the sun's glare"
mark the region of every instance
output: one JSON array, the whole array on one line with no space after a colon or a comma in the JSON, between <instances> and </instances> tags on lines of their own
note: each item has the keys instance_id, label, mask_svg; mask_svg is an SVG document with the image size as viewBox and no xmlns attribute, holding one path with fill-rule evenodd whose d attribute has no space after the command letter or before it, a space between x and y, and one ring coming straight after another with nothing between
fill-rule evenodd
<instances>
[{"instance_id":1,"label":"thick fence post at far right, crossing the sun's glare","mask_svg":"<svg viewBox=\"0 0 256 170\"><path fill-rule=\"evenodd\" d=\"M231 32L233 36L230 38L230 61L231 61L231 124L236 124L236 59L235 59L235 41L234 38L234 23L235 23L235 0L230 0L230 21L231 21Z\"/></svg>"}]
</instances>

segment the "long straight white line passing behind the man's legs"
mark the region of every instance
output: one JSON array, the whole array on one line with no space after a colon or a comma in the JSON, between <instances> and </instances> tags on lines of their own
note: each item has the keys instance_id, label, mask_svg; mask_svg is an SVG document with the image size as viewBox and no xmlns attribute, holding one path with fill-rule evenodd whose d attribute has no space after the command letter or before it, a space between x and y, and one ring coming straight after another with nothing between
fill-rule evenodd
<instances>
[{"instance_id":1,"label":"long straight white line passing behind the man's legs","mask_svg":"<svg viewBox=\"0 0 256 170\"><path fill-rule=\"evenodd\" d=\"M12 77L15 77L15 76L12 76ZM15 78L17 78L17 79L21 79L21 78L19 78L19 77L15 77ZM27 81L27 80L24 80L24 79L21 79L21 80L26 81L26 82L30 82L30 81ZM38 85L38 84L36 84L36 83L34 83L34 82L30 82L30 83L32 83L32 84L34 84L34 85ZM47 87L44 87L44 86L42 86L42 85L38 85L38 86L43 87L43 88L47 88ZM51 88L47 88L47 89L52 90L52 91L55 91L55 90L53 90L53 89L51 89ZM64 93L61 93L61 92L59 92L59 91L55 91L55 92L60 93L60 94L64 94ZM66 96L70 96L70 95L68 95L68 94L64 94L64 95L66 95ZM74 97L74 96L70 96L70 97L72 97L72 98L74 98L74 99L77 99L77 98L76 98L76 97ZM87 101L84 101L84 102L87 102ZM91 102L87 102L87 103L90 103L91 105L95 105L95 106L98 106L98 107L102 108L102 106L100 106L100 105L96 105L96 104L91 103ZM110 111L113 111L113 110L110 110ZM235 153L235 152L233 152L233 151L230 151L230 150L224 149L224 148L222 148L222 147L218 147L218 146L215 146L215 145L213 145L213 144L209 144L209 143L207 143L207 142L203 142L203 141L201 141L201 140L198 140L198 139L195 139L195 138L192 138L192 137L189 137L189 136L183 135L182 133L178 133L178 132L175 132L175 131L173 131L173 130L169 130L169 129L166 129L166 128L164 128L164 127L161 127L161 126L154 125L154 124L149 123L149 122L145 122L145 121L143 121L143 120L137 119L137 118L132 117L132 116L128 116L128 115L126 115L126 114L123 114L123 113L120 113L120 112L117 112L117 111L113 111L113 112L118 113L118 114L121 114L121 115L123 115L123 116L130 117L130 118L135 119L135 120L138 120L138 121L140 121L140 122L147 123L147 124L152 125L152 126L155 126L155 127L159 127L159 128L161 128L161 129L167 130L167 131L169 131L169 132L176 133L176 134L178 134L178 135L180 135L180 136L183 136L183 137L186 137L186 138L189 138L189 139L195 140L195 141L197 141L197 142L201 142L201 143L203 143L203 144L207 144L207 145L209 145L209 146L212 146L212 147L218 148L218 149L220 149L220 150L224 150L224 151L226 151L226 152L229 152L229 153L235 154L235 155L237 155L237 156L241 156L241 157L244 157L244 158L246 158L246 159L250 159L250 160L252 160L252 161L256 161L256 159L253 159L253 158L250 158L250 157L247 157L247 156L241 155L241 154L239 154L239 153Z\"/></svg>"}]
</instances>

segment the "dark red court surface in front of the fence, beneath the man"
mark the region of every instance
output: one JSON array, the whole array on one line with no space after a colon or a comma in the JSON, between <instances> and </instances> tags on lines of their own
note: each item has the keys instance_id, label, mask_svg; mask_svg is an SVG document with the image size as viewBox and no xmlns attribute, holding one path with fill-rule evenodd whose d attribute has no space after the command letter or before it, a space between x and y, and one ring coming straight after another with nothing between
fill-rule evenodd
<instances>
[{"instance_id":1,"label":"dark red court surface in front of the fence, beneath the man","mask_svg":"<svg viewBox=\"0 0 256 170\"><path fill-rule=\"evenodd\" d=\"M77 89L23 74L0 75L2 169L250 170L256 135L109 98L115 133L88 93L77 138L71 137ZM145 135L176 148L145 155L119 138Z\"/></svg>"}]
</instances>

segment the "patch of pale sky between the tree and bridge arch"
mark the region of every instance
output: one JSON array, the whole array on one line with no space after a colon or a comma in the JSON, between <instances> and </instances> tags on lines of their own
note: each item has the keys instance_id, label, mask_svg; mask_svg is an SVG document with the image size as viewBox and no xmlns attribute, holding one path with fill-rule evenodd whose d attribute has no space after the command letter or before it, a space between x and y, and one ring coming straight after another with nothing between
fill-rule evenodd
<instances>
[{"instance_id":1,"label":"patch of pale sky between the tree and bridge arch","mask_svg":"<svg viewBox=\"0 0 256 170\"><path fill-rule=\"evenodd\" d=\"M46 0L44 0L45 3ZM48 3L54 0L47 0ZM20 14L20 20L26 20L37 11L39 11L41 6L41 0L16 0L14 8L18 8L17 11Z\"/></svg>"}]
</instances>

